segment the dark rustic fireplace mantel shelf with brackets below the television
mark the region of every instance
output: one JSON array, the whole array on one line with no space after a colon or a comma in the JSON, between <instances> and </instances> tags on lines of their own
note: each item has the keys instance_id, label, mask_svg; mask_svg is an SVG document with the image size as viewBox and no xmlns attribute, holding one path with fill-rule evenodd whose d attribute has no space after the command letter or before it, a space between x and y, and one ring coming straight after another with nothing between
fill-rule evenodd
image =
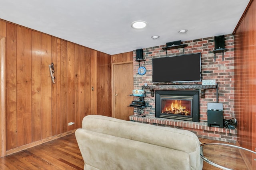
<instances>
[{"instance_id":1,"label":"dark rustic fireplace mantel shelf with brackets below the television","mask_svg":"<svg viewBox=\"0 0 256 170\"><path fill-rule=\"evenodd\" d=\"M216 89L217 85L202 85L202 84L168 84L168 85L148 85L142 86L142 89L150 89L151 96L154 97L154 90L182 89L182 90L200 90L200 97L204 98L205 89Z\"/></svg>"}]
</instances>

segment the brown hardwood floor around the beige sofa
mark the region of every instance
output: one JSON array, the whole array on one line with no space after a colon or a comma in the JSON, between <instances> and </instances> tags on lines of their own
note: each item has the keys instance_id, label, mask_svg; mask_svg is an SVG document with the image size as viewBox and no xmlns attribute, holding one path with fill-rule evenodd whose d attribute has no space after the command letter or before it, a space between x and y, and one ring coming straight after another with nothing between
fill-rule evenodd
<instances>
[{"instance_id":1,"label":"brown hardwood floor around the beige sofa","mask_svg":"<svg viewBox=\"0 0 256 170\"><path fill-rule=\"evenodd\" d=\"M213 142L208 139L199 140L202 143ZM205 149L204 152L216 151ZM223 160L223 157L219 157L219 159ZM228 158L226 159L229 160ZM232 164L233 165L229 168L235 170L247 170L242 158L237 158L237 161L232 162ZM83 168L84 161L74 133L0 158L1 170L82 170ZM220 169L204 162L203 170Z\"/></svg>"}]
</instances>

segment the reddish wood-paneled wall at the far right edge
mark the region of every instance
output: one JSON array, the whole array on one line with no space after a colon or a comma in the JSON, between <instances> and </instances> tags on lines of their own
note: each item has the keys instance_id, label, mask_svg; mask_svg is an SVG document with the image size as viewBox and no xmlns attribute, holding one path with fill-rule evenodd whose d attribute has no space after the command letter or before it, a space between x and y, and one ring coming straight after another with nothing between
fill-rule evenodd
<instances>
[{"instance_id":1,"label":"reddish wood-paneled wall at the far right edge","mask_svg":"<svg viewBox=\"0 0 256 170\"><path fill-rule=\"evenodd\" d=\"M235 106L238 115L238 143L256 150L256 1L252 0L234 31L236 88ZM256 167L254 156L247 156Z\"/></svg>"}]
</instances>

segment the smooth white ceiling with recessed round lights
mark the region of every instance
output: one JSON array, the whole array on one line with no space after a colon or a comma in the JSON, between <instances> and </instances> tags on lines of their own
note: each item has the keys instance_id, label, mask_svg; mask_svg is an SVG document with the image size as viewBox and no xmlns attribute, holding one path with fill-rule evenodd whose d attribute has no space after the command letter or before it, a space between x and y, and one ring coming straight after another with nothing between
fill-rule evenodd
<instances>
[{"instance_id":1,"label":"smooth white ceiling with recessed round lights","mask_svg":"<svg viewBox=\"0 0 256 170\"><path fill-rule=\"evenodd\" d=\"M0 18L114 55L230 34L249 1L0 0ZM136 20L146 21L147 27L133 29ZM188 32L180 34L180 29Z\"/></svg>"}]
</instances>

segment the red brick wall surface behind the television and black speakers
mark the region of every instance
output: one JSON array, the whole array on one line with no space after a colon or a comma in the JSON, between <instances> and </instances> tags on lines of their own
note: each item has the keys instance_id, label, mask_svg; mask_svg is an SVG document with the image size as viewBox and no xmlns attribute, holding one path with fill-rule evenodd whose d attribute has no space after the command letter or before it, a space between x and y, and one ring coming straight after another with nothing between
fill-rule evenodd
<instances>
[{"instance_id":1,"label":"red brick wall surface behind the television and black speakers","mask_svg":"<svg viewBox=\"0 0 256 170\"><path fill-rule=\"evenodd\" d=\"M222 61L222 53L216 53L216 61L214 61L214 36L202 39L194 39L190 41L184 41L182 44L187 44L184 49L184 54L188 53L201 53L202 64L202 80L215 79L218 83L218 102L223 103L224 119L231 119L234 115L234 38L232 34L225 35L225 47L228 49L224 52L224 61ZM134 58L134 89L142 89L142 85L147 83L152 84L152 58L166 57L166 51L162 49L166 45L149 47L143 49L143 57L146 60L147 72L143 76L138 74L139 63L136 60L136 50L133 51ZM172 49L167 51L167 56L181 55L183 54L183 48ZM140 66L144 66L144 62L140 63ZM177 84L177 83L176 83ZM179 83L179 84L193 84L193 83ZM196 83L194 83L196 84ZM197 82L201 84L201 82ZM155 98L151 97L150 90L146 90L147 97L145 98L151 108L144 109L146 117L155 116ZM134 100L137 100L134 98ZM206 89L205 98L200 98L200 123L207 122L207 103L216 102L216 89ZM137 114L137 109L134 109L134 114ZM196 123L194 123L196 124ZM207 126L207 125L206 125ZM186 127L183 127L186 128ZM220 135L224 132L226 139L236 140L236 134L234 137L230 137L225 129L204 127L203 131L208 136L207 138L216 139L212 135ZM197 133L197 132L195 132ZM236 133L236 131L234 131ZM198 134L199 135L199 134ZM217 140L223 140L222 137L217 137ZM225 137L224 137L225 138ZM226 141L226 140L225 140Z\"/></svg>"}]
</instances>

